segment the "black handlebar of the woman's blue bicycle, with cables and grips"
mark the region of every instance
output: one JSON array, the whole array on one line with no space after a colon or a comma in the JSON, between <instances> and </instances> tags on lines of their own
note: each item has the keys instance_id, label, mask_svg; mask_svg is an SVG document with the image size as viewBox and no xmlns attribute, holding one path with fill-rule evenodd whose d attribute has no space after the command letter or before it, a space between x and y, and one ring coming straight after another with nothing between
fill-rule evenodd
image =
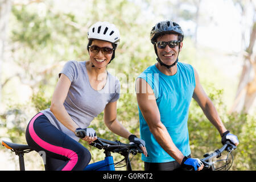
<instances>
[{"instance_id":1,"label":"black handlebar of the woman's blue bicycle, with cables and grips","mask_svg":"<svg viewBox=\"0 0 256 182\"><path fill-rule=\"evenodd\" d=\"M121 143L118 140L116 141L110 141L106 139L102 139L100 137L97 137L94 142L90 143L91 146L96 147L98 149L104 149L108 152L117 152L119 154L125 154L127 152L132 152L133 155L136 155L137 153L143 153L141 148L137 146L137 144L126 144Z\"/></svg>"}]
</instances>

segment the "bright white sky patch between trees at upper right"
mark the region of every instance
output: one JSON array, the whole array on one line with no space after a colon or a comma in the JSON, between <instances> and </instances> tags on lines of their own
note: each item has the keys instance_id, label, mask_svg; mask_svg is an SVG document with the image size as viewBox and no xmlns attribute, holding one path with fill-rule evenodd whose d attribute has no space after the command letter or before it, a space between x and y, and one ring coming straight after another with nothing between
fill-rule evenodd
<instances>
[{"instance_id":1,"label":"bright white sky patch between trees at upper right","mask_svg":"<svg viewBox=\"0 0 256 182\"><path fill-rule=\"evenodd\" d=\"M241 17L241 9L232 0L202 1L200 24L197 32L198 42L207 47L225 52L240 52L245 49L242 31L245 31L246 43L249 43L250 27L253 23L253 7L246 10L247 19ZM255 13L254 13L255 14ZM204 19L204 15L212 19ZM181 27L195 27L192 22L181 22Z\"/></svg>"}]
</instances>

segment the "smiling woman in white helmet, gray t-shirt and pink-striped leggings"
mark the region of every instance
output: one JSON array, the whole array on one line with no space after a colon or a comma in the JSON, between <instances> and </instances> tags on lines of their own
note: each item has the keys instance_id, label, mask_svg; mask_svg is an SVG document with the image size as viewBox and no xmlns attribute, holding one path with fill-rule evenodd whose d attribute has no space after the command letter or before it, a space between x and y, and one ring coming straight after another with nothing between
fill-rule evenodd
<instances>
[{"instance_id":1,"label":"smiling woman in white helmet, gray t-shirt and pink-striped leggings","mask_svg":"<svg viewBox=\"0 0 256 182\"><path fill-rule=\"evenodd\" d=\"M59 73L51 107L40 111L28 123L26 139L36 151L46 152L46 170L82 170L90 152L78 141L97 139L90 122L104 110L104 122L113 133L141 146L144 141L131 134L117 120L120 83L106 71L114 59L120 36L114 24L97 22L89 28L88 61L68 61ZM83 134L83 135L81 135Z\"/></svg>"}]
</instances>

